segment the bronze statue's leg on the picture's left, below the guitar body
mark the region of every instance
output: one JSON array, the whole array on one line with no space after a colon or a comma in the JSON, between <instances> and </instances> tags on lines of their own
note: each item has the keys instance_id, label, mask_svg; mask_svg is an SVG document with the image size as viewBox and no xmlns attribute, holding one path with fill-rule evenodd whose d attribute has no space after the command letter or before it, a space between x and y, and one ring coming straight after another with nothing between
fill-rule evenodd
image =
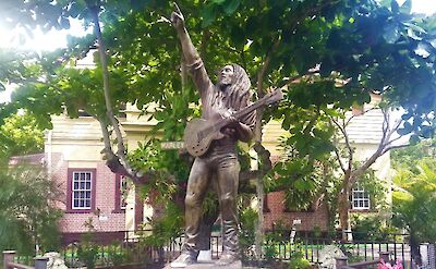
<instances>
[{"instance_id":1,"label":"bronze statue's leg on the picture's left, below the guitar body","mask_svg":"<svg viewBox=\"0 0 436 269\"><path fill-rule=\"evenodd\" d=\"M208 164L196 158L187 180L185 197L185 243L187 250L198 250L199 224L202 220L202 201L206 195L209 184Z\"/></svg>"}]
</instances>

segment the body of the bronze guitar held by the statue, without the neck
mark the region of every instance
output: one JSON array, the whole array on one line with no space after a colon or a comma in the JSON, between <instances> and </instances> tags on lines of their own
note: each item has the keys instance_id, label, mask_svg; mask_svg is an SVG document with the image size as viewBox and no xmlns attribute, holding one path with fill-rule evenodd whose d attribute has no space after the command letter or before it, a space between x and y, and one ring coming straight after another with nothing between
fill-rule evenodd
<instances>
[{"instance_id":1,"label":"body of the bronze guitar held by the statue, without the neck","mask_svg":"<svg viewBox=\"0 0 436 269\"><path fill-rule=\"evenodd\" d=\"M214 129L215 122L211 120L193 119L190 121L183 136L187 152L194 157L205 155L213 140L223 137L219 130L214 131Z\"/></svg>"}]
</instances>

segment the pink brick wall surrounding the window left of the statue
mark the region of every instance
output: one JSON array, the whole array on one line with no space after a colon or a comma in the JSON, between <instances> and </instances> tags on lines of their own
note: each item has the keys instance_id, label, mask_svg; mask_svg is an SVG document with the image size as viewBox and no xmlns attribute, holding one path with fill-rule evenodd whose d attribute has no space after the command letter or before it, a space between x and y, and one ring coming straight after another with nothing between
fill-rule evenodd
<instances>
[{"instance_id":1,"label":"pink brick wall surrounding the window left of the statue","mask_svg":"<svg viewBox=\"0 0 436 269\"><path fill-rule=\"evenodd\" d=\"M59 154L53 154L51 158L52 175L62 191L59 208L66 209L66 179L69 162L62 159ZM77 167L80 168L80 167ZM82 233L86 232L84 225L89 218L93 224L100 232L116 232L125 230L125 213L114 212L116 209L116 174L113 174L106 164L100 161L95 164L96 169L96 209L99 217L93 212L65 212L59 222L62 233Z\"/></svg>"}]
</instances>

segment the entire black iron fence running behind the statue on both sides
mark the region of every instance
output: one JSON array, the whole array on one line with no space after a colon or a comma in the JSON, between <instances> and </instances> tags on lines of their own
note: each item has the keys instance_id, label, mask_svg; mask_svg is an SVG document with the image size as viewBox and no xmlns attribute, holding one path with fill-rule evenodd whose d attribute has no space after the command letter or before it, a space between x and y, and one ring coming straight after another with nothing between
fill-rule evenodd
<instances>
[{"instance_id":1,"label":"entire black iron fence running behind the statue on both sides","mask_svg":"<svg viewBox=\"0 0 436 269\"><path fill-rule=\"evenodd\" d=\"M153 265L173 260L182 250L183 236L170 240L165 244L147 241L153 231L123 231L124 237L112 244L100 244L95 241L70 244L61 250L65 265L70 268L82 267L86 258L94 259L100 267L119 265ZM263 245L264 260L290 260L295 256L304 257L312 264L319 264L323 248L326 245L339 247L350 264L378 260L379 253L390 253L391 260L401 260L404 268L416 268L408 234L350 234L355 240L344 242L341 233L315 236L310 232L298 232L293 237L289 231L274 231ZM351 236L349 236L351 237ZM245 261L255 260L255 246L242 245ZM213 234L210 239L210 256L219 257L222 250L221 236ZM422 244L419 250L423 255L423 264L428 264L429 245Z\"/></svg>"}]
</instances>

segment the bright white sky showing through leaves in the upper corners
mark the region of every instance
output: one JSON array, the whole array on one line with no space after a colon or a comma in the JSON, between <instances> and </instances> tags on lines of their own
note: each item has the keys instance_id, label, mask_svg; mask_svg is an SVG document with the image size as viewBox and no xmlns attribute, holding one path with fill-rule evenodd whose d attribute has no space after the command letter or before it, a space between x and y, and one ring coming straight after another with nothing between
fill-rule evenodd
<instances>
[{"instance_id":1,"label":"bright white sky showing through leaves in the upper corners","mask_svg":"<svg viewBox=\"0 0 436 269\"><path fill-rule=\"evenodd\" d=\"M400 4L404 1L405 0L398 0ZM412 0L412 12L428 15L436 13L436 0ZM23 44L19 40L16 35L20 30L8 29L0 25L0 47L36 50L39 52L50 51L66 47L66 35L84 36L89 32L90 29L85 33L78 21L72 21L70 29L50 30L47 34L44 34L40 29L36 29L34 38ZM8 101L12 90L13 87L8 87L5 91L0 91L0 102Z\"/></svg>"}]
</instances>

